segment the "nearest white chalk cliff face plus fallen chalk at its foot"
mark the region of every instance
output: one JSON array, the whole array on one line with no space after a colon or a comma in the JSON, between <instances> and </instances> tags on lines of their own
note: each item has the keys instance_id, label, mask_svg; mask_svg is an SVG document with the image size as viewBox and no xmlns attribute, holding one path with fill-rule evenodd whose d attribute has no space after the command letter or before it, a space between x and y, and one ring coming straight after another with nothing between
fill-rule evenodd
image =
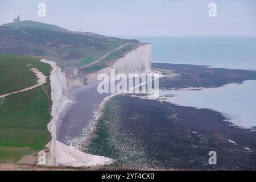
<instances>
[{"instance_id":1,"label":"nearest white chalk cliff face plus fallen chalk at its foot","mask_svg":"<svg viewBox=\"0 0 256 182\"><path fill-rule=\"evenodd\" d=\"M51 80L51 98L52 98L52 120L48 124L48 130L52 135L52 139L47 143L48 152L39 152L39 165L43 166L72 166L72 167L87 167L87 166L102 166L112 163L112 159L104 156L96 156L85 154L57 141L56 125L61 111L68 102L68 90L70 80L67 79L65 73L57 67L56 63L40 60L44 63L51 64L52 71ZM43 158L42 158L43 157Z\"/></svg>"}]
</instances>

